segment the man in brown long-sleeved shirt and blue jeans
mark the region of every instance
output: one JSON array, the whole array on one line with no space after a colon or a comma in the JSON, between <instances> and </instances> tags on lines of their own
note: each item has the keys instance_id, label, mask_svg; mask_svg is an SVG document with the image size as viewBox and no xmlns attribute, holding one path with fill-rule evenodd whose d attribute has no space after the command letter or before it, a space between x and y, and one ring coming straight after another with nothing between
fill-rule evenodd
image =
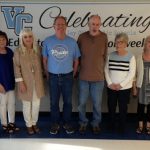
<instances>
[{"instance_id":1,"label":"man in brown long-sleeved shirt and blue jeans","mask_svg":"<svg viewBox=\"0 0 150 150\"><path fill-rule=\"evenodd\" d=\"M93 133L100 133L101 102L104 88L104 65L107 55L107 35L99 30L101 18L92 15L89 18L89 31L78 38L81 50L79 73L79 132L85 133L88 125L86 103L90 94L93 103Z\"/></svg>"}]
</instances>

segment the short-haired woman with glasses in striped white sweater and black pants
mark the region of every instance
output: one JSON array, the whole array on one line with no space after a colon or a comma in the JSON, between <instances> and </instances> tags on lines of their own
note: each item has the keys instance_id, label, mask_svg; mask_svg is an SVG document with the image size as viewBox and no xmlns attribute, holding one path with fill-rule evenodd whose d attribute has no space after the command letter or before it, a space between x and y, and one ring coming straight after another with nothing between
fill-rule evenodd
<instances>
[{"instance_id":1,"label":"short-haired woman with glasses in striped white sweater and black pants","mask_svg":"<svg viewBox=\"0 0 150 150\"><path fill-rule=\"evenodd\" d=\"M120 132L125 131L127 104L130 98L133 77L135 76L135 57L128 52L128 36L125 33L117 34L115 37L116 51L109 54L105 77L108 86L108 111L110 114L110 125L113 129L116 125L115 112L118 103Z\"/></svg>"}]
</instances>

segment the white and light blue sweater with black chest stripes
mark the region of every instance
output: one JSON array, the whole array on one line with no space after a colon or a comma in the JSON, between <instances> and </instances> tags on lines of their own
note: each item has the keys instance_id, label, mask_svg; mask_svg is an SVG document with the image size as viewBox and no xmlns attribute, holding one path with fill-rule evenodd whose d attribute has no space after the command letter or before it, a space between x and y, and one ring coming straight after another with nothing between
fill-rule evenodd
<instances>
[{"instance_id":1,"label":"white and light blue sweater with black chest stripes","mask_svg":"<svg viewBox=\"0 0 150 150\"><path fill-rule=\"evenodd\" d=\"M105 66L107 84L120 84L121 90L131 88L135 68L135 57L130 52L124 56L118 55L116 51L110 53Z\"/></svg>"}]
</instances>

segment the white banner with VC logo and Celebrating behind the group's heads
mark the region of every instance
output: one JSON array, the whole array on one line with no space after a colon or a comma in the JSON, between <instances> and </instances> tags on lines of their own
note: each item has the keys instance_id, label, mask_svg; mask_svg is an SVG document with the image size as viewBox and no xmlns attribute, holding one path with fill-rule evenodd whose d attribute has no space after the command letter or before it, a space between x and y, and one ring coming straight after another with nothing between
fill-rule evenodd
<instances>
[{"instance_id":1,"label":"white banner with VC logo and Celebrating behind the group's heads","mask_svg":"<svg viewBox=\"0 0 150 150\"><path fill-rule=\"evenodd\" d=\"M53 21L58 15L67 18L67 34L78 38L88 30L90 15L102 18L101 30L108 35L109 50L114 50L114 37L118 32L129 35L128 48L141 51L144 38L150 34L149 3L32 3L1 2L0 30L10 38L10 46L18 46L18 35L22 28L32 28L41 45L45 37L52 35Z\"/></svg>"}]
</instances>

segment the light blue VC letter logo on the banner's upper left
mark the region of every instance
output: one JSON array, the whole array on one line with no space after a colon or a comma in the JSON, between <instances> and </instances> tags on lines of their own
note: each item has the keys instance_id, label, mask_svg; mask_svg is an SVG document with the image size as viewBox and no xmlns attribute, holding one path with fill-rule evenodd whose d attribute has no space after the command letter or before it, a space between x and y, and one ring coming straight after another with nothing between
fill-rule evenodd
<instances>
[{"instance_id":1,"label":"light blue VC letter logo on the banner's upper left","mask_svg":"<svg viewBox=\"0 0 150 150\"><path fill-rule=\"evenodd\" d=\"M19 35L23 28L31 28L24 26L24 23L32 23L33 16L24 12L23 6L2 6L1 11L4 14L8 29L14 29L16 35Z\"/></svg>"}]
</instances>

